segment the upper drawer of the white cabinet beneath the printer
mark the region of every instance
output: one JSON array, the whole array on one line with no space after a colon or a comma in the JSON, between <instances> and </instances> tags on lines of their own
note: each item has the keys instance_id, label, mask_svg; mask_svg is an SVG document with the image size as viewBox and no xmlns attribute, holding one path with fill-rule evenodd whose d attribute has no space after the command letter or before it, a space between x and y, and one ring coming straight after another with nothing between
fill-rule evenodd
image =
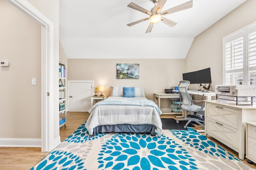
<instances>
[{"instance_id":1,"label":"upper drawer of the white cabinet beneath the printer","mask_svg":"<svg viewBox=\"0 0 256 170\"><path fill-rule=\"evenodd\" d=\"M207 117L235 129L239 128L239 110L224 106L207 104Z\"/></svg>"}]
</instances>

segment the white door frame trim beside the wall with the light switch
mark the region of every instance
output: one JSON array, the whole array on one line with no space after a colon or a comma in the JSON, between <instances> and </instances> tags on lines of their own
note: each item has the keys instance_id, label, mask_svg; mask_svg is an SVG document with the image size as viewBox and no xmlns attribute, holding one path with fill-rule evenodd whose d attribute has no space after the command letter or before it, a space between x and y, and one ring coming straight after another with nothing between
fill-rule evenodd
<instances>
[{"instance_id":1,"label":"white door frame trim beside the wall with the light switch","mask_svg":"<svg viewBox=\"0 0 256 170\"><path fill-rule=\"evenodd\" d=\"M7 0L42 25L41 53L41 135L42 152L49 152L56 147L54 143L54 29L52 21L26 0ZM47 92L50 96L47 96Z\"/></svg>"}]
</instances>

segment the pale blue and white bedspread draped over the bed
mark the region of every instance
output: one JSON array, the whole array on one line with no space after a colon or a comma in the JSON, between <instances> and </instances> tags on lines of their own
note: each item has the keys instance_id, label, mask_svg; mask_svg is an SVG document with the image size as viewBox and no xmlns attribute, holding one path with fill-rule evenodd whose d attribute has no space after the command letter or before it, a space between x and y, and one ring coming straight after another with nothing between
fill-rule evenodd
<instances>
[{"instance_id":1,"label":"pale blue and white bedspread draped over the bed","mask_svg":"<svg viewBox=\"0 0 256 170\"><path fill-rule=\"evenodd\" d=\"M162 134L162 112L152 100L144 97L109 97L97 102L88 112L90 116L85 127L90 135L93 135L93 129L97 126L118 124L155 125L158 135Z\"/></svg>"}]
</instances>

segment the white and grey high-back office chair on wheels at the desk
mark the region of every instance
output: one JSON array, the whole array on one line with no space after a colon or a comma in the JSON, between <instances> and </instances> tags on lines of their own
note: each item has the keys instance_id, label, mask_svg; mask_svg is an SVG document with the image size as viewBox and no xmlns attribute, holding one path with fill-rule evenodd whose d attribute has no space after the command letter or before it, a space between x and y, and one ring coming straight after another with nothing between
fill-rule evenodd
<instances>
[{"instance_id":1,"label":"white and grey high-back office chair on wheels at the desk","mask_svg":"<svg viewBox=\"0 0 256 170\"><path fill-rule=\"evenodd\" d=\"M197 106L194 104L194 102L203 102L203 101L192 100L192 98L190 97L190 95L188 93L188 85L189 84L190 84L189 81L186 81L186 80L180 81L180 84L178 86L178 91L180 94L180 99L182 101L182 104L180 104L180 107L184 110L189 111L191 117L178 119L178 120L176 120L176 122L179 123L179 121L181 121L181 120L187 120L188 122L186 123L186 125L184 125L184 128L186 129L188 124L191 121L194 121L194 122L198 123L199 125L201 125L204 129L204 125L202 124L202 123L204 123L204 121L193 117L194 112L204 111L204 103L202 104L202 106Z\"/></svg>"}]
</instances>

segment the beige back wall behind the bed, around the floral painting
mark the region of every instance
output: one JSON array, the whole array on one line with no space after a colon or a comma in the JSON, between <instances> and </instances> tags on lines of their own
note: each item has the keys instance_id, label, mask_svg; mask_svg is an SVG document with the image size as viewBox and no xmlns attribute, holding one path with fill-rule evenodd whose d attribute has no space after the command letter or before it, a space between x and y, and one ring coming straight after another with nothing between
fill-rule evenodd
<instances>
[{"instance_id":1,"label":"beige back wall behind the bed, around the floral painting","mask_svg":"<svg viewBox=\"0 0 256 170\"><path fill-rule=\"evenodd\" d=\"M140 64L140 78L116 79L118 63ZM146 98L154 100L154 93L179 84L184 64L185 59L68 59L68 80L94 80L108 96L111 86L144 87Z\"/></svg>"}]
</instances>

